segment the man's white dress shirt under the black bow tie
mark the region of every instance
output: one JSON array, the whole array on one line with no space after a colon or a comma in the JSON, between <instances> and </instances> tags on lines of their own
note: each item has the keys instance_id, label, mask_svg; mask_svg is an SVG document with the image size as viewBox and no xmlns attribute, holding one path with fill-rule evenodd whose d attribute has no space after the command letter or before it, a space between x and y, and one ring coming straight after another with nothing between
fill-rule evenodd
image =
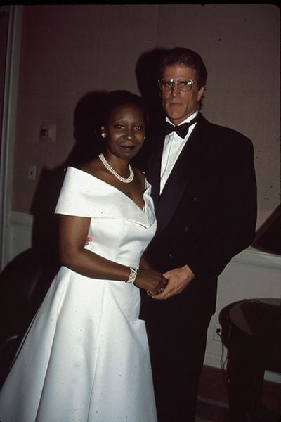
<instances>
[{"instance_id":1,"label":"man's white dress shirt under the black bow tie","mask_svg":"<svg viewBox=\"0 0 281 422\"><path fill-rule=\"evenodd\" d=\"M194 119L194 117L196 117L197 114L198 114L198 110L192 113L192 115L190 115L187 119L183 120L181 124L190 122L190 120ZM169 120L169 117L166 117L166 122L173 124ZM179 126L181 124L179 124ZM171 174L171 170L173 170L176 160L178 160L178 157L181 154L181 151L183 147L185 146L185 143L188 141L190 134L192 133L192 130L195 128L195 126L196 126L196 122L189 127L188 133L186 134L184 139L181 138L181 136L178 136L176 132L171 132L169 135L165 136L163 153L162 153L162 161L161 161L160 194L162 193L162 190L166 184L166 181L169 178L169 175Z\"/></svg>"}]
</instances>

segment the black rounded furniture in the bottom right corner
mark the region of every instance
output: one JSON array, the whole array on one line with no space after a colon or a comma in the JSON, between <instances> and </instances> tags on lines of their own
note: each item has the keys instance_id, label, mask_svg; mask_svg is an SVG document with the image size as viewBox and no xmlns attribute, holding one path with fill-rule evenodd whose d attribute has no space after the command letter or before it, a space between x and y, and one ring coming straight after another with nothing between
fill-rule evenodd
<instances>
[{"instance_id":1,"label":"black rounded furniture in the bottom right corner","mask_svg":"<svg viewBox=\"0 0 281 422\"><path fill-rule=\"evenodd\" d=\"M281 302L251 299L221 310L221 340L228 348L227 385L231 422L263 422L263 376L281 372Z\"/></svg>"}]
</instances>

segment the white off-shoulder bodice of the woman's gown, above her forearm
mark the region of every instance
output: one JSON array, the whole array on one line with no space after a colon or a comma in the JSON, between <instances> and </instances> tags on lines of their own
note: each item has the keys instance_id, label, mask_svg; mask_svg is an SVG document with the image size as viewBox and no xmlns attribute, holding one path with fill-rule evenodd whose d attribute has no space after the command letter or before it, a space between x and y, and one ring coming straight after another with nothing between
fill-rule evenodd
<instances>
[{"instance_id":1,"label":"white off-shoulder bodice of the woman's gown, above her forearm","mask_svg":"<svg viewBox=\"0 0 281 422\"><path fill-rule=\"evenodd\" d=\"M138 267L156 230L151 185L145 181L144 208L107 182L68 167L56 213L90 217L86 249L119 264Z\"/></svg>"}]
</instances>

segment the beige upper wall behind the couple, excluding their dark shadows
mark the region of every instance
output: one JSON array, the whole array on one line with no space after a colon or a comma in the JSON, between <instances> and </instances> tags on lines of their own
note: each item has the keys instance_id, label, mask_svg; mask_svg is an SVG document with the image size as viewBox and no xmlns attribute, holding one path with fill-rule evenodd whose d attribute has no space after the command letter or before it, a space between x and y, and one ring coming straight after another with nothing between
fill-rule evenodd
<instances>
[{"instance_id":1,"label":"beige upper wall behind the couple, excluding their dark shadows","mask_svg":"<svg viewBox=\"0 0 281 422\"><path fill-rule=\"evenodd\" d=\"M209 71L205 117L254 143L259 226L280 202L279 17L270 4L24 6L12 210L30 212L41 169L66 160L85 94L138 93L143 53L187 46ZM39 141L42 122L57 124L55 143Z\"/></svg>"}]
</instances>

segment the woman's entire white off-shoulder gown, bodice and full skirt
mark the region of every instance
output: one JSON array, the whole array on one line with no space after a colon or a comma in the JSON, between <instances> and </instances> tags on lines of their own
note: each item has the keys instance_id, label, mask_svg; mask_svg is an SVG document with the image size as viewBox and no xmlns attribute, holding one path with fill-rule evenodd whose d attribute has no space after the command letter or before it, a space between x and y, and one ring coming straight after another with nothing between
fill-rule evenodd
<instances>
[{"instance_id":1,"label":"woman's entire white off-shoulder gown, bodice and full skirt","mask_svg":"<svg viewBox=\"0 0 281 422\"><path fill-rule=\"evenodd\" d=\"M91 217L87 249L138 267L156 230L145 208L68 167L56 212ZM0 392L1 422L156 422L140 291L61 267Z\"/></svg>"}]
</instances>

